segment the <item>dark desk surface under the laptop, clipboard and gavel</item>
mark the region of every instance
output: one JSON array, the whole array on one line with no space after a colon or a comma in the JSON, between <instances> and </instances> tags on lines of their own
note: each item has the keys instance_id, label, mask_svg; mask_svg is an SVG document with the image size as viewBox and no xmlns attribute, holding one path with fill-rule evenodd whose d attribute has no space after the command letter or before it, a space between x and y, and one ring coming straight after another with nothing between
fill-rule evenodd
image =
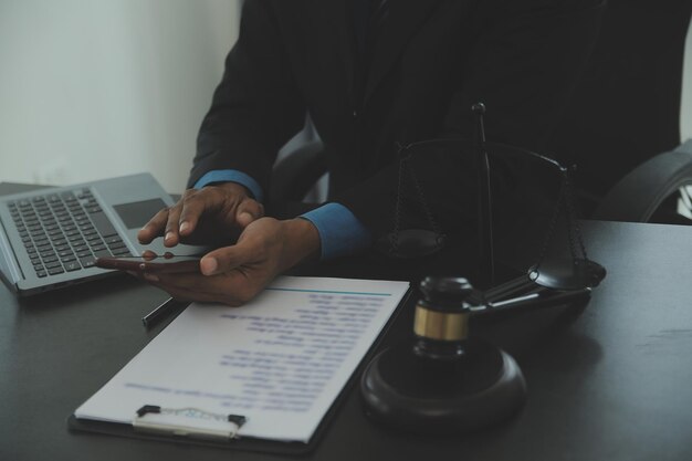
<instances>
[{"instance_id":1,"label":"dark desk surface under the laptop, clipboard and gavel","mask_svg":"<svg viewBox=\"0 0 692 461\"><path fill-rule=\"evenodd\" d=\"M692 228L589 222L586 237L609 273L581 315L556 308L474 329L524 370L516 418L405 437L368 420L352 388L306 459L691 460ZM67 431L67 416L158 333L140 317L166 297L127 276L23 300L0 285L0 459L277 459ZM408 334L410 312L385 343Z\"/></svg>"}]
</instances>

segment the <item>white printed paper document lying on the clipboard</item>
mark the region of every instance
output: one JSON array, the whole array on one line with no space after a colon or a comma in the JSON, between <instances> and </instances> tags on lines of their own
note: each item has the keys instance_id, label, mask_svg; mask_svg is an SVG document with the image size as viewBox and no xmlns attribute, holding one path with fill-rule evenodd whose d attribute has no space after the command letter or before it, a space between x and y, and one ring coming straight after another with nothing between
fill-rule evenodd
<instances>
[{"instance_id":1,"label":"white printed paper document lying on the clipboard","mask_svg":"<svg viewBox=\"0 0 692 461\"><path fill-rule=\"evenodd\" d=\"M247 417L241 437L307 442L408 289L283 276L243 307L192 304L74 415L196 408Z\"/></svg>"}]
</instances>

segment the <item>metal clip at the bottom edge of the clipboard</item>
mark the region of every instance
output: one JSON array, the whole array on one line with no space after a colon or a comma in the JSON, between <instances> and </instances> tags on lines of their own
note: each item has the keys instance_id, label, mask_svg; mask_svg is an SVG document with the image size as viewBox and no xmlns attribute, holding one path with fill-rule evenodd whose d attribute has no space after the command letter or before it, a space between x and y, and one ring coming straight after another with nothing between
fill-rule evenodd
<instances>
[{"instance_id":1,"label":"metal clip at the bottom edge of the clipboard","mask_svg":"<svg viewBox=\"0 0 692 461\"><path fill-rule=\"evenodd\" d=\"M241 415L218 415L199 408L161 408L145 405L133 419L135 431L208 440L238 439L248 419Z\"/></svg>"}]
</instances>

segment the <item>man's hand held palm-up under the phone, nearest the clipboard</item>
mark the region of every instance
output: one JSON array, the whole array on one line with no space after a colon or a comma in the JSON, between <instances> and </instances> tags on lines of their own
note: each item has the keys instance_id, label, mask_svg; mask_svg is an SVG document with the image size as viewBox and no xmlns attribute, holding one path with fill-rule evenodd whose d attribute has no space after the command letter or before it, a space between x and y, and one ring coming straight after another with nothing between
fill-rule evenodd
<instances>
[{"instance_id":1,"label":"man's hand held palm-up under the phone, nearest the clipboard","mask_svg":"<svg viewBox=\"0 0 692 461\"><path fill-rule=\"evenodd\" d=\"M318 252L319 233L312 222L262 218L245 227L237 244L206 254L201 273L145 273L144 279L177 300L240 306L277 274Z\"/></svg>"}]
</instances>

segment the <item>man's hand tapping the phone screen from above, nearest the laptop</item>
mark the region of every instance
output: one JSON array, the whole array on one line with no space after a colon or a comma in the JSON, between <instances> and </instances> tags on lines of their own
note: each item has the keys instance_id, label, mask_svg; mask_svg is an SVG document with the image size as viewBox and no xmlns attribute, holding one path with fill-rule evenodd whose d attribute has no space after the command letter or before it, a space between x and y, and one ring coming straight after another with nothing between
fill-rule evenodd
<instances>
[{"instance_id":1,"label":"man's hand tapping the phone screen from above, nearest the laptop","mask_svg":"<svg viewBox=\"0 0 692 461\"><path fill-rule=\"evenodd\" d=\"M210 244L263 216L262 205L252 199L243 186L226 182L199 190L188 189L176 205L156 213L137 238L147 244L164 235L166 247L182 241Z\"/></svg>"}]
</instances>

